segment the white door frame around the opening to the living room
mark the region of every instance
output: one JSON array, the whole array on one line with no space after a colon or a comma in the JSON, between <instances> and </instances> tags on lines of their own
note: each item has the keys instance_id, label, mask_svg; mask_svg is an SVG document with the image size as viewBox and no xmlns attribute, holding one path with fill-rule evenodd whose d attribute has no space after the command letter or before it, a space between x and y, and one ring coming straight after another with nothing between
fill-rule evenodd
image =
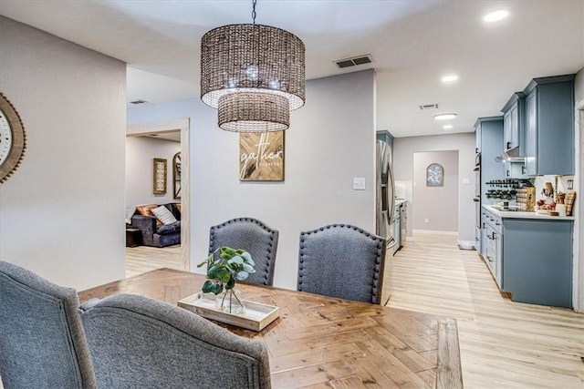
<instances>
[{"instance_id":1,"label":"white door frame around the opening to the living room","mask_svg":"<svg viewBox=\"0 0 584 389\"><path fill-rule=\"evenodd\" d=\"M181 130L181 256L183 270L191 271L191 122L178 118L128 126L126 136Z\"/></svg>"}]
</instances>

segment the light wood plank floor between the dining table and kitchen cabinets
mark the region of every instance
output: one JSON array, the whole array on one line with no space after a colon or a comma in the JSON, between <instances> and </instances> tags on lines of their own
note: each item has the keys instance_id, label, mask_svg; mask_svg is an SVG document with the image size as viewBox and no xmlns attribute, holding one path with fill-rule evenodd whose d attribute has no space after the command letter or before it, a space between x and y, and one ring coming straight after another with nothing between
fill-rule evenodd
<instances>
[{"instance_id":1,"label":"light wood plank floor between the dining table and kitchen cabinets","mask_svg":"<svg viewBox=\"0 0 584 389\"><path fill-rule=\"evenodd\" d=\"M457 320L465 388L584 388L584 314L510 301L455 236L414 233L388 259L387 306Z\"/></svg>"}]
</instances>

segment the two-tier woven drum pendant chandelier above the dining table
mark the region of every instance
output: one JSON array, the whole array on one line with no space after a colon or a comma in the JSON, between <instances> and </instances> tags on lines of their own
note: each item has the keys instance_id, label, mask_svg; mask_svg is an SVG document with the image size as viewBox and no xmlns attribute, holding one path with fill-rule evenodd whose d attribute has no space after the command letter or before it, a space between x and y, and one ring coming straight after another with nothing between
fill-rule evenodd
<instances>
[{"instance_id":1,"label":"two-tier woven drum pendant chandelier above the dining table","mask_svg":"<svg viewBox=\"0 0 584 389\"><path fill-rule=\"evenodd\" d=\"M280 131L305 102L302 41L280 28L255 24L214 28L201 39L201 99L218 109L220 128Z\"/></svg>"}]
</instances>

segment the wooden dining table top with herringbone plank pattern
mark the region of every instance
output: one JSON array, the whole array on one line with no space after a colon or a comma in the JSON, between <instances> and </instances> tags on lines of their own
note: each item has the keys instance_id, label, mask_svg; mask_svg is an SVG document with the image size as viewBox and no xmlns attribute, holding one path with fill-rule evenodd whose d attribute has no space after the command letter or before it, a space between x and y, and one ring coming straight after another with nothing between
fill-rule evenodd
<instances>
[{"instance_id":1,"label":"wooden dining table top with herringbone plank pattern","mask_svg":"<svg viewBox=\"0 0 584 389\"><path fill-rule=\"evenodd\" d=\"M81 302L132 293L176 304L201 291L202 274L159 269L79 292ZM456 321L365 302L239 283L248 300L276 305L262 332L272 386L462 388Z\"/></svg>"}]
</instances>

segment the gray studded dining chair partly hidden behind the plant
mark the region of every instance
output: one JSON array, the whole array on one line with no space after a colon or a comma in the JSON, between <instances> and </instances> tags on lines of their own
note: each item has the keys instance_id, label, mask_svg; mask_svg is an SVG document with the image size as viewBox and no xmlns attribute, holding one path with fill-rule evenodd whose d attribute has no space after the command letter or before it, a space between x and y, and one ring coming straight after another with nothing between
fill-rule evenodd
<instances>
[{"instance_id":1,"label":"gray studded dining chair partly hidden behind the plant","mask_svg":"<svg viewBox=\"0 0 584 389\"><path fill-rule=\"evenodd\" d=\"M211 227L209 231L209 255L222 246L243 249L255 261L255 273L245 282L257 285L274 283L278 231L260 220L236 218Z\"/></svg>"}]
</instances>

